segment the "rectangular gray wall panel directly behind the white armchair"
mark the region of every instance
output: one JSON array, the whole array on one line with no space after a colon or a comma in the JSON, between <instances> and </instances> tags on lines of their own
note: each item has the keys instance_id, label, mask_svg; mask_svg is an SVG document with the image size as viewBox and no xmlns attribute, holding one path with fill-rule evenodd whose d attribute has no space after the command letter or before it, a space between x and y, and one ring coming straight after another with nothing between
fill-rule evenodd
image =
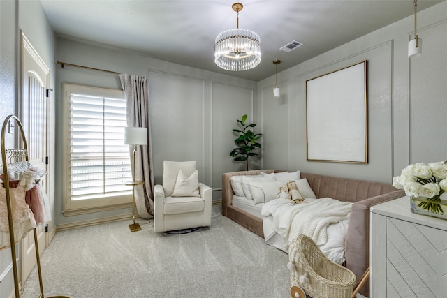
<instances>
[{"instance_id":1,"label":"rectangular gray wall panel directly behind the white armchair","mask_svg":"<svg viewBox=\"0 0 447 298\"><path fill-rule=\"evenodd\" d=\"M150 68L147 77L156 183L161 183L166 159L196 160L199 179L204 181L209 167L205 158L206 81Z\"/></svg>"}]
</instances>

